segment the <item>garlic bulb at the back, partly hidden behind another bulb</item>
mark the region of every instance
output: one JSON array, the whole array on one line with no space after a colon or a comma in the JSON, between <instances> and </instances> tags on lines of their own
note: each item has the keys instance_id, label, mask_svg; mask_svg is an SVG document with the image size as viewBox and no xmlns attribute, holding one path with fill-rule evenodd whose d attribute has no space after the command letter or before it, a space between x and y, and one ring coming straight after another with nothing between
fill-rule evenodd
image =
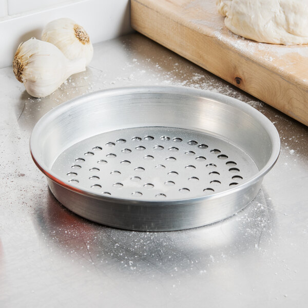
<instances>
[{"instance_id":1,"label":"garlic bulb at the back, partly hidden behind another bulb","mask_svg":"<svg viewBox=\"0 0 308 308\"><path fill-rule=\"evenodd\" d=\"M93 46L89 35L70 18L48 23L43 29L42 40L55 45L70 60L85 57L86 65L92 60Z\"/></svg>"}]
</instances>

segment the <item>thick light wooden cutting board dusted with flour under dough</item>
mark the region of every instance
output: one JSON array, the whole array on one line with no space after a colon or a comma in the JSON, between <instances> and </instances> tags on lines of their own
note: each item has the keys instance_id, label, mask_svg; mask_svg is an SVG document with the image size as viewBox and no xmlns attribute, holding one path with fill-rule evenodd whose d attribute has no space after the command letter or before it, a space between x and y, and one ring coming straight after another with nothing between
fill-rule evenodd
<instances>
[{"instance_id":1,"label":"thick light wooden cutting board dusted with flour under dough","mask_svg":"<svg viewBox=\"0 0 308 308\"><path fill-rule=\"evenodd\" d=\"M131 25L308 125L308 45L257 43L235 35L215 0L131 0Z\"/></svg>"}]
</instances>

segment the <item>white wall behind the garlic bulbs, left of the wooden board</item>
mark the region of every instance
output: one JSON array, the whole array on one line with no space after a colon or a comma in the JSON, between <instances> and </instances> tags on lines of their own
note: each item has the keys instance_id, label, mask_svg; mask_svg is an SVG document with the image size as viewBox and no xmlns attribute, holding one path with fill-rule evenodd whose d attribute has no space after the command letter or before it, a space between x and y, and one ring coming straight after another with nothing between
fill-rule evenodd
<instances>
[{"instance_id":1,"label":"white wall behind the garlic bulbs, left of the wooden board","mask_svg":"<svg viewBox=\"0 0 308 308\"><path fill-rule=\"evenodd\" d=\"M69 17L98 43L129 32L129 0L0 0L0 68L12 65L18 45L40 39L44 26Z\"/></svg>"}]
</instances>

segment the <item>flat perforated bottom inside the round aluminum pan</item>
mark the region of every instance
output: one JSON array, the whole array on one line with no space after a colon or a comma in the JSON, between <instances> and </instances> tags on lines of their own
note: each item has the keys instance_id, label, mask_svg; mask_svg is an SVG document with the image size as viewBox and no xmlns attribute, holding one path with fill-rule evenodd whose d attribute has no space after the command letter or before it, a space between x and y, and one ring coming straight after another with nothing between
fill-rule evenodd
<instances>
[{"instance_id":1,"label":"flat perforated bottom inside the round aluminum pan","mask_svg":"<svg viewBox=\"0 0 308 308\"><path fill-rule=\"evenodd\" d=\"M134 127L74 144L52 165L59 179L101 196L182 200L240 185L258 167L241 148L208 132Z\"/></svg>"}]
</instances>

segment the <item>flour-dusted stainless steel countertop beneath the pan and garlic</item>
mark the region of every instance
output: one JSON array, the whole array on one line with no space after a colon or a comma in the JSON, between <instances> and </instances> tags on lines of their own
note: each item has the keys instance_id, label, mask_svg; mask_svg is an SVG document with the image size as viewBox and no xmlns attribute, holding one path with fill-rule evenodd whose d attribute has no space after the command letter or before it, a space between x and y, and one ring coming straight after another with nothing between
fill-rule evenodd
<instances>
[{"instance_id":1,"label":"flour-dusted stainless steel countertop beneath the pan and garlic","mask_svg":"<svg viewBox=\"0 0 308 308\"><path fill-rule=\"evenodd\" d=\"M254 106L276 126L277 163L237 215L195 229L144 233L89 222L53 198L29 155L35 123L80 94L185 85ZM87 71L33 99L0 70L0 306L305 307L308 128L132 34L94 46Z\"/></svg>"}]
</instances>

